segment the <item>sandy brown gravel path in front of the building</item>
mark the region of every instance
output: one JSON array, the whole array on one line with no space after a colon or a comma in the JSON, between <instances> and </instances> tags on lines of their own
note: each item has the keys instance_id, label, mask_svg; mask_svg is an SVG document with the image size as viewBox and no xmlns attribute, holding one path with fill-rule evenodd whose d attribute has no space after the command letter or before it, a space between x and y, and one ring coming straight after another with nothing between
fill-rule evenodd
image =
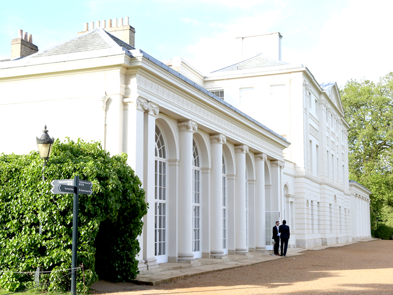
<instances>
[{"instance_id":1,"label":"sandy brown gravel path in front of the building","mask_svg":"<svg viewBox=\"0 0 393 295\"><path fill-rule=\"evenodd\" d=\"M253 266L157 286L98 282L111 295L393 295L393 241L372 240L309 250Z\"/></svg>"}]
</instances>

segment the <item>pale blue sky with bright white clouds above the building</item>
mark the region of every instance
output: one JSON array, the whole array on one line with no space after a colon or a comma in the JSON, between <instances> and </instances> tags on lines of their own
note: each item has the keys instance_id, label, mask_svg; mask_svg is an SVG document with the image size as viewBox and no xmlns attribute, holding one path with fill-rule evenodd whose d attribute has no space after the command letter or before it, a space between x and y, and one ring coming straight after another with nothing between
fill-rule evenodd
<instances>
[{"instance_id":1,"label":"pale blue sky with bright white clouds above the building","mask_svg":"<svg viewBox=\"0 0 393 295\"><path fill-rule=\"evenodd\" d=\"M181 57L202 73L230 65L236 37L280 31L282 60L318 83L377 81L393 71L393 1L382 0L37 0L0 2L0 59L23 29L40 50L71 39L84 23L130 18L136 48Z\"/></svg>"}]
</instances>

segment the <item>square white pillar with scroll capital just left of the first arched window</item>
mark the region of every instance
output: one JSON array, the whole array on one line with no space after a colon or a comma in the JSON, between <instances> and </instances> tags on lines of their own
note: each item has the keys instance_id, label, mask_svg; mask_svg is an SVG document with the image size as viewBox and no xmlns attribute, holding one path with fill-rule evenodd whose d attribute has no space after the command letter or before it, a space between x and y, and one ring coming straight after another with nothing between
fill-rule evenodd
<instances>
[{"instance_id":1,"label":"square white pillar with scroll capital just left of the first arched window","mask_svg":"<svg viewBox=\"0 0 393 295\"><path fill-rule=\"evenodd\" d=\"M155 134L156 116L159 113L157 105L140 101L143 110L143 189L145 191L145 202L150 204L147 214L143 216L143 259L147 269L158 268L155 256L155 224L154 224L154 202L155 202ZM140 147L139 147L140 148Z\"/></svg>"}]
</instances>

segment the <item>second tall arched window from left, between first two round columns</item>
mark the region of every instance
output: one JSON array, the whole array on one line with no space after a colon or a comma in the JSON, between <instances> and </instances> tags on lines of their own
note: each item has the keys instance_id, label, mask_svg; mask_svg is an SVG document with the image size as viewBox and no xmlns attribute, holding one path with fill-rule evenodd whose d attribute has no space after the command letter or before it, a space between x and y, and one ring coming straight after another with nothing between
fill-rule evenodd
<instances>
[{"instance_id":1,"label":"second tall arched window from left, between first two round columns","mask_svg":"<svg viewBox=\"0 0 393 295\"><path fill-rule=\"evenodd\" d=\"M200 156L197 143L193 140L193 252L195 258L202 257L200 217Z\"/></svg>"}]
</instances>

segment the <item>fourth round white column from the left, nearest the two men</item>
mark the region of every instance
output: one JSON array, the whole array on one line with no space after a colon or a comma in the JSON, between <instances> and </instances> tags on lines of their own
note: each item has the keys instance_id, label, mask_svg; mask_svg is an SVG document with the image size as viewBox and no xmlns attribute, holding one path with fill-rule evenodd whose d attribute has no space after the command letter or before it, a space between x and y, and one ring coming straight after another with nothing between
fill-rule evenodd
<instances>
[{"instance_id":1,"label":"fourth round white column from the left, nearest the two men","mask_svg":"<svg viewBox=\"0 0 393 295\"><path fill-rule=\"evenodd\" d=\"M266 250L265 161L267 155L255 155L255 251Z\"/></svg>"}]
</instances>

